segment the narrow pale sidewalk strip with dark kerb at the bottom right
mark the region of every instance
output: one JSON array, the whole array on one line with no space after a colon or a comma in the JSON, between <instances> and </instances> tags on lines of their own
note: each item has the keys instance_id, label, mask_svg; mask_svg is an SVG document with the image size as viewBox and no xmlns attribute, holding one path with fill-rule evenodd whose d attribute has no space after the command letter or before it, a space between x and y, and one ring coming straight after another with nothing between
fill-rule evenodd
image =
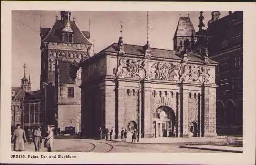
<instances>
[{"instance_id":1,"label":"narrow pale sidewalk strip with dark kerb at the bottom right","mask_svg":"<svg viewBox=\"0 0 256 165\"><path fill-rule=\"evenodd\" d=\"M184 145L184 146L180 146L180 148L191 148L191 149L200 149L200 150L212 150L212 151L243 153L243 148L242 147L233 147L233 146Z\"/></svg>"}]
</instances>

